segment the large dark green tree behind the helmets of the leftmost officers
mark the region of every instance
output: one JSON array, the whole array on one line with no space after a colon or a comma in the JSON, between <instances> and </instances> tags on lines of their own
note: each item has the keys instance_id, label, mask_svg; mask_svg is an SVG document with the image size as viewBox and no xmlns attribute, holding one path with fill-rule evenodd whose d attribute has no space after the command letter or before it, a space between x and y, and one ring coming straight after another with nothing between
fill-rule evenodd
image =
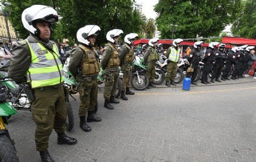
<instances>
[{"instance_id":1,"label":"large dark green tree behind the helmets of the leftmost officers","mask_svg":"<svg viewBox=\"0 0 256 162\"><path fill-rule=\"evenodd\" d=\"M12 6L8 11L12 11L10 20L20 38L26 38L28 32L21 22L21 13L24 9L34 4L43 4L55 7L61 19L53 26L53 38L62 40L66 37L70 40L76 38L76 33L80 27L95 24L101 27L101 32L97 36L97 43L106 42L106 33L113 28L120 28L124 34L130 32L139 33L143 25L141 14L133 10L132 1L114 0L10 0Z\"/></svg>"}]
</instances>

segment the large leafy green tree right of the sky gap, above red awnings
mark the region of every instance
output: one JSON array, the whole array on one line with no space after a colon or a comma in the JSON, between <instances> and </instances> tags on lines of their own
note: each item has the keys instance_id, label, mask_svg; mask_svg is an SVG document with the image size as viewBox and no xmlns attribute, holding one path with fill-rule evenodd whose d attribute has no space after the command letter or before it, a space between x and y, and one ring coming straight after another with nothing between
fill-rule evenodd
<instances>
[{"instance_id":1,"label":"large leafy green tree right of the sky gap, above red awnings","mask_svg":"<svg viewBox=\"0 0 256 162\"><path fill-rule=\"evenodd\" d=\"M162 38L172 36L170 24L178 25L174 38L218 36L240 9L241 0L160 0L155 6L157 29Z\"/></svg>"}]
</instances>

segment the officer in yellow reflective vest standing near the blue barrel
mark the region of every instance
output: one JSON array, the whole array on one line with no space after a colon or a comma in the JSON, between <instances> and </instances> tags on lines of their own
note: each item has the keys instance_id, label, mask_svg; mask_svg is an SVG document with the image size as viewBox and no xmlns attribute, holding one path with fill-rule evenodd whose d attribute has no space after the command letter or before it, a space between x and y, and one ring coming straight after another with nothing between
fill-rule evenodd
<instances>
[{"instance_id":1,"label":"officer in yellow reflective vest standing near the blue barrel","mask_svg":"<svg viewBox=\"0 0 256 162\"><path fill-rule=\"evenodd\" d=\"M167 61L167 68L166 68L166 78L165 78L165 85L171 86L176 84L173 82L173 80L176 77L177 73L177 65L179 61L179 55L181 55L181 48L179 48L179 43L183 42L183 39L174 39L172 42L172 46L168 48L166 57L168 58Z\"/></svg>"}]
</instances>

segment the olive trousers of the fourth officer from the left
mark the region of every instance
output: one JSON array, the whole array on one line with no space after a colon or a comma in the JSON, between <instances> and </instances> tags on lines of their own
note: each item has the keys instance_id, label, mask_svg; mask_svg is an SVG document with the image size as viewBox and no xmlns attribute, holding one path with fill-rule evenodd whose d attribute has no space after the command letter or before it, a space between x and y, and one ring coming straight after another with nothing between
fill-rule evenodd
<instances>
[{"instance_id":1,"label":"olive trousers of the fourth officer from the left","mask_svg":"<svg viewBox=\"0 0 256 162\"><path fill-rule=\"evenodd\" d=\"M122 82L122 90L126 90L130 85L130 78L132 78L132 66L131 65L122 65L123 72L123 82Z\"/></svg>"}]
</instances>

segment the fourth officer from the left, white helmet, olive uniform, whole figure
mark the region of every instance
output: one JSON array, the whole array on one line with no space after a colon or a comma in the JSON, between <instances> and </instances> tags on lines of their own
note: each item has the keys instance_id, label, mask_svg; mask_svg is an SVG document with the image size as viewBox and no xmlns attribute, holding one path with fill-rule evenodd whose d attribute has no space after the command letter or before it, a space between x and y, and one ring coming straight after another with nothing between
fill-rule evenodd
<instances>
[{"instance_id":1,"label":"fourth officer from the left, white helmet, olive uniform, whole figure","mask_svg":"<svg viewBox=\"0 0 256 162\"><path fill-rule=\"evenodd\" d=\"M121 62L123 72L122 92L121 99L128 100L126 95L134 95L134 92L130 91L129 84L132 77L132 64L134 60L133 55L133 41L138 38L137 33L129 33L124 37L124 45L120 49L119 58Z\"/></svg>"}]
</instances>

